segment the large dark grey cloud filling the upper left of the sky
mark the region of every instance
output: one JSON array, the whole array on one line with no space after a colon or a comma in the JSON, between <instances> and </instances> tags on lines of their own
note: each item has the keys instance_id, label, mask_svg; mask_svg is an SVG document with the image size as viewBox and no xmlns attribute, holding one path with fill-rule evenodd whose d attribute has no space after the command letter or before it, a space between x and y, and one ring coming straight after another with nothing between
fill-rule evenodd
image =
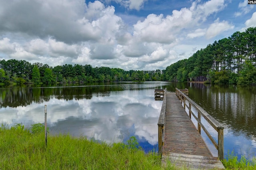
<instances>
[{"instance_id":1,"label":"large dark grey cloud filling the upper left of the sky","mask_svg":"<svg viewBox=\"0 0 256 170\"><path fill-rule=\"evenodd\" d=\"M1 32L22 32L40 38L51 35L67 43L100 38L100 29L83 16L82 0L2 0L0 6L4 7L0 13Z\"/></svg>"}]
</instances>

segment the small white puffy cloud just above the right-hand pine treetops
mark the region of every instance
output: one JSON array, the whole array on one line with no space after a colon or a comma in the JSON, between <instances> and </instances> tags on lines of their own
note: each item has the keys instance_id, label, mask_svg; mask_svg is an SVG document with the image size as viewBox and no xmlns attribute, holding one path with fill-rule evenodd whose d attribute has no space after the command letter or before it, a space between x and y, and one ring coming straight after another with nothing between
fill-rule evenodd
<instances>
[{"instance_id":1,"label":"small white puffy cloud just above the right-hand pine treetops","mask_svg":"<svg viewBox=\"0 0 256 170\"><path fill-rule=\"evenodd\" d=\"M213 38L213 37L217 36L218 34L220 34L221 32L224 32L226 30L230 30L233 28L234 28L234 26L232 24L229 24L227 21L220 22L219 18L218 18L207 29L206 38L208 38L208 39Z\"/></svg>"}]
</instances>

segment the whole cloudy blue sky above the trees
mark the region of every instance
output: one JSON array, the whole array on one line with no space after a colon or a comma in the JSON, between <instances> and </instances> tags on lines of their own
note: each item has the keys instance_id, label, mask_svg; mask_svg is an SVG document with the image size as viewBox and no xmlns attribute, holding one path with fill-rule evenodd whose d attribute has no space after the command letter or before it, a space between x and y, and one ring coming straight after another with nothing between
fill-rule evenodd
<instances>
[{"instance_id":1,"label":"whole cloudy blue sky above the trees","mask_svg":"<svg viewBox=\"0 0 256 170\"><path fill-rule=\"evenodd\" d=\"M0 60L164 70L249 27L248 0L0 0Z\"/></svg>"}]
</instances>

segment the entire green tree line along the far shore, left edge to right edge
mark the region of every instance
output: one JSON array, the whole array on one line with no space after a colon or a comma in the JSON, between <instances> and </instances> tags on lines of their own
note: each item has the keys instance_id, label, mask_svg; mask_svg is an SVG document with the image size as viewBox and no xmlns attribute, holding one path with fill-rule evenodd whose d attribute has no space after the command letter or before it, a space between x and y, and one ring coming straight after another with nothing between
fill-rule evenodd
<instances>
[{"instance_id":1,"label":"entire green tree line along the far shore, left edge to right edge","mask_svg":"<svg viewBox=\"0 0 256 170\"><path fill-rule=\"evenodd\" d=\"M165 70L140 71L91 65L31 64L25 60L0 60L0 85L77 84L118 81L200 81L212 84L256 85L256 27L214 41Z\"/></svg>"}]
</instances>

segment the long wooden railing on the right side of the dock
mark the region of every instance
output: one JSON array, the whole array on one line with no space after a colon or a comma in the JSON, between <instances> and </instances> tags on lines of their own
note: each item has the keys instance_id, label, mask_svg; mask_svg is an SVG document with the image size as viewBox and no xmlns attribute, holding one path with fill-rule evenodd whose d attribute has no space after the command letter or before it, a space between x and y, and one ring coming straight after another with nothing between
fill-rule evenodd
<instances>
[{"instance_id":1,"label":"long wooden railing on the right side of the dock","mask_svg":"<svg viewBox=\"0 0 256 170\"><path fill-rule=\"evenodd\" d=\"M188 96L186 96L186 94L182 92L183 90L179 90L178 88L175 88L175 89L176 89L176 96L180 100L181 104L183 102L184 109L186 110L186 107L188 108L190 119L191 119L191 115L193 115L196 121L198 122L198 127L197 127L198 132L201 134L201 128L204 130L208 138L212 141L212 144L218 150L218 158L220 160L223 160L224 159L224 127L212 116L210 116L210 114L208 114L203 108L201 108L198 104L196 104L193 100L191 100ZM189 105L186 104L186 101L188 102ZM196 116L193 113L191 109L192 106L197 110L198 116ZM214 138L211 136L211 134L207 131L207 129L202 124L201 116L203 116L204 119L218 132L218 143L214 140ZM158 131L159 131L159 125L158 125Z\"/></svg>"}]
</instances>

